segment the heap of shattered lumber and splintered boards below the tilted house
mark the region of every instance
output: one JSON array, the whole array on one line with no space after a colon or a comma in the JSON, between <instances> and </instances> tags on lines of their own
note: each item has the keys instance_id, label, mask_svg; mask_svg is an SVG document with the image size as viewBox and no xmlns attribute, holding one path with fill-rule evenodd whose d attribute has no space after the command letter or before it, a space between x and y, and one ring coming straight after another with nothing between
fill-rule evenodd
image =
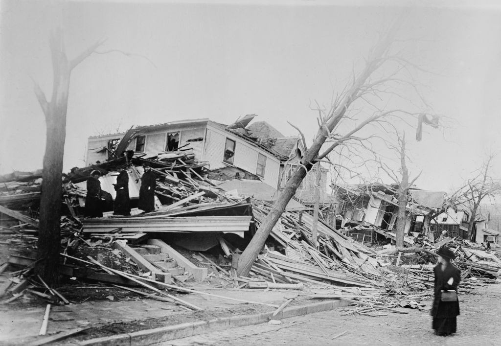
<instances>
[{"instance_id":1,"label":"heap of shattered lumber and splintered boards below the tilted house","mask_svg":"<svg viewBox=\"0 0 501 346\"><path fill-rule=\"evenodd\" d=\"M311 297L346 299L364 306L363 309L357 310L357 313L373 315L376 309L401 313L393 311L393 307L423 308L420 301L429 299L432 295L433 267L436 263L434 253L443 244L449 244L458 255L455 263L463 272L461 289L467 291L482 284L477 276L491 280L501 275L501 260L493 253L481 250L472 243L450 238L435 244L424 243L415 249L407 248L407 252L398 249L394 253L390 253L392 250L376 252L347 237L340 230L319 221L317 249L312 242L313 217L304 212L282 214L269 239L270 242L275 242L275 246L272 248L270 245L268 251L265 250L258 257L248 277L236 275L234 265L243 247L238 249L222 237L223 224L217 221L219 219L215 223L217 227L213 230L204 228L203 232L218 232L217 239L221 251L227 260L233 258L233 266L228 263L216 263L208 254L198 253L193 257L206 267L196 268L191 264L195 267L191 268L189 263L184 263L184 268L175 267L173 259L160 259L160 253L148 252L152 250L148 246L155 247L151 242L157 239L149 239L150 232L145 231L145 226L163 222L161 227L165 231L169 220L176 222L177 219L181 222L188 218L193 218L190 219L192 221L197 218L200 222L205 222L204 217L222 216L228 220L245 218L241 229L228 230L243 233L250 229L252 232L254 226L259 227L265 220L271 206L263 201L252 200L251 203L250 199L238 200L225 196L212 181L204 178L203 164L194 162L185 153L163 153L155 158L132 159L137 165L150 163L152 170L160 178L157 180L155 192L164 204L152 213L132 217L78 219L80 210L77 201L85 197L85 189L78 186L78 181L83 181L85 178L82 177L86 177L85 174L88 175L96 166L77 171L73 178L70 178L73 181L66 185L69 198L64 196L62 199L71 215L68 214L62 219L64 263L61 264L60 270L67 277L75 278L74 283L112 286L132 292L131 294L171 302L183 309L197 310L197 306L175 297L174 294L200 293L187 287L189 281L198 275L197 281L209 282L217 278L220 287L229 286L234 289L250 287L301 290L307 287L315 292ZM123 160L108 161L99 167L106 171L112 170L123 164ZM137 178L140 176L140 169L132 168L132 174ZM30 193L26 187L34 190L37 188L36 184L30 184L11 181L7 184L9 189L4 191L4 195ZM10 200L9 204L17 201L27 200ZM32 203L33 199L29 201ZM71 296L64 297L58 292L60 296L32 274L38 227L36 211L30 213L33 217L30 218L18 211L2 208L4 209L0 212L21 223L1 228L1 233L10 236L6 245L25 249L28 247L29 250L28 253L21 252L26 257L11 256L8 263L2 266L2 271L8 266L17 269L9 275L4 274L3 282L0 282L0 287L3 288L0 293L5 293L4 303L19 298L23 293L46 299L49 303L66 303L62 297L70 302L78 302ZM250 220L251 218L253 220ZM231 227L234 228L235 224ZM150 231L161 230L151 228ZM147 248L146 253L142 252L144 248ZM412 252L408 252L409 250ZM115 258L111 258L114 255ZM190 268L193 271L190 272ZM213 268L208 275L207 268ZM196 272L196 269L204 269L205 272ZM376 292L381 290L382 294Z\"/></svg>"}]
</instances>

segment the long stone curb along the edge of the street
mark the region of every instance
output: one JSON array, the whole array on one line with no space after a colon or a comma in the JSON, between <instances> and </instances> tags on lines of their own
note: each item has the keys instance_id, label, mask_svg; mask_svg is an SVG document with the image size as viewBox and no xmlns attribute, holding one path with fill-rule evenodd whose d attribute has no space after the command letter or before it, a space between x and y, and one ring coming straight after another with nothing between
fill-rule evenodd
<instances>
[{"instance_id":1,"label":"long stone curb along the edge of the street","mask_svg":"<svg viewBox=\"0 0 501 346\"><path fill-rule=\"evenodd\" d=\"M133 333L103 336L94 339L84 340L72 344L81 346L131 346L131 345L151 345L168 340L175 340L203 334L211 331L234 328L244 325L268 322L270 319L282 319L294 316L305 315L314 312L332 310L336 307L348 306L350 303L345 300L328 300L318 303L298 305L280 311L276 316L272 316L274 311L257 313L253 315L239 315L231 317L214 318L208 321L196 321L159 327L153 329L139 330Z\"/></svg>"}]
</instances>

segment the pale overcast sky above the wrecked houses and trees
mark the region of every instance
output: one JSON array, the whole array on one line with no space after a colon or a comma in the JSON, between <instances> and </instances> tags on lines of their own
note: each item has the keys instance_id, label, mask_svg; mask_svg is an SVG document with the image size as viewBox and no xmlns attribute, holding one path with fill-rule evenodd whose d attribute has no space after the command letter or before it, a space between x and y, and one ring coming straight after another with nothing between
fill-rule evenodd
<instances>
[{"instance_id":1,"label":"pale overcast sky above the wrecked houses and trees","mask_svg":"<svg viewBox=\"0 0 501 346\"><path fill-rule=\"evenodd\" d=\"M127 53L93 54L74 69L68 171L84 165L89 136L132 125L196 118L229 124L255 113L255 121L285 135L297 134L291 122L311 141L318 129L312 105L328 105L342 91L402 13L396 50L429 71L415 70L416 85L448 119L446 129L425 128L420 142L406 130L411 175L423 170L418 187L448 191L501 145L501 7L495 1L2 1L0 174L42 167L45 121L32 79L50 98L48 38L57 26L69 58L102 38L98 51ZM394 92L420 102L408 88ZM501 154L494 172L499 177Z\"/></svg>"}]
</instances>

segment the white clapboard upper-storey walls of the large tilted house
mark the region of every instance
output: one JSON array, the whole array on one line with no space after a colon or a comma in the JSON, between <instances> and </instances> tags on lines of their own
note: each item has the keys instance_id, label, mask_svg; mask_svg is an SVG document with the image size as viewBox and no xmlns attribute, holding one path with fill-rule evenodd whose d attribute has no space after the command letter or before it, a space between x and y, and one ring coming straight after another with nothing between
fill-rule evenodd
<instances>
[{"instance_id":1,"label":"white clapboard upper-storey walls of the large tilted house","mask_svg":"<svg viewBox=\"0 0 501 346\"><path fill-rule=\"evenodd\" d=\"M86 164L109 159L124 139L126 143L120 144L124 147L119 154L132 150L137 156L155 158L166 152L182 151L211 171L229 171L231 178L259 179L277 186L281 155L246 135L244 126L253 117L243 117L231 125L209 119L172 121L89 137Z\"/></svg>"}]
</instances>

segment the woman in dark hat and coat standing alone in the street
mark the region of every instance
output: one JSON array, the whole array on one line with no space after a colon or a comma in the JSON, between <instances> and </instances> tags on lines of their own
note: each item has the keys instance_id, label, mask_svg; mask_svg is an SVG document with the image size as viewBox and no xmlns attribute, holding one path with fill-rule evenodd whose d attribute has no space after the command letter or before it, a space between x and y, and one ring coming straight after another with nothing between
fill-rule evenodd
<instances>
[{"instance_id":1,"label":"woman in dark hat and coat standing alone in the street","mask_svg":"<svg viewBox=\"0 0 501 346\"><path fill-rule=\"evenodd\" d=\"M431 316L435 333L445 336L456 332L456 316L459 315L457 286L461 271L450 262L455 255L447 247L442 246L437 255L438 263L433 269L435 283Z\"/></svg>"}]
</instances>

